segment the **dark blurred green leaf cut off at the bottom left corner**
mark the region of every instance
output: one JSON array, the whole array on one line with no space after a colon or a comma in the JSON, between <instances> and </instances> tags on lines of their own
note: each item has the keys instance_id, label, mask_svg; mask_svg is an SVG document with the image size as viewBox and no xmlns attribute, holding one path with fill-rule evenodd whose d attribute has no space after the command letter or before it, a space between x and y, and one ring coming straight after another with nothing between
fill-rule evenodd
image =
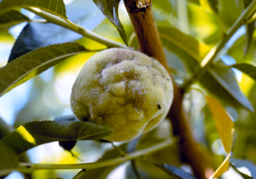
<instances>
[{"instance_id":1,"label":"dark blurred green leaf cut off at the bottom left corner","mask_svg":"<svg viewBox=\"0 0 256 179\"><path fill-rule=\"evenodd\" d=\"M18 158L16 152L4 141L0 141L0 176L9 174L8 169L18 167Z\"/></svg>"}]
</instances>

